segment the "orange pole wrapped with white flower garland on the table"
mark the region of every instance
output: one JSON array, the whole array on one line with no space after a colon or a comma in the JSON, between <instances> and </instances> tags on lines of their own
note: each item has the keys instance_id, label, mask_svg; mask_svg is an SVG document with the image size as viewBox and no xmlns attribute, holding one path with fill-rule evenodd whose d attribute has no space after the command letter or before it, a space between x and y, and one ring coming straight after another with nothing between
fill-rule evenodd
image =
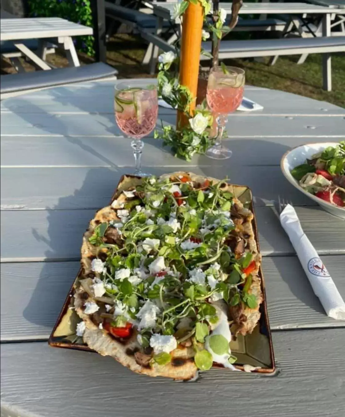
<instances>
[{"instance_id":1,"label":"orange pole wrapped with white flower garland on the table","mask_svg":"<svg viewBox=\"0 0 345 417\"><path fill-rule=\"evenodd\" d=\"M180 60L180 84L185 85L193 96L189 113L195 109L196 93L198 89L198 75L201 52L201 32L203 30L203 6L189 3L183 14L182 42ZM177 126L188 123L183 113L178 112Z\"/></svg>"}]
</instances>

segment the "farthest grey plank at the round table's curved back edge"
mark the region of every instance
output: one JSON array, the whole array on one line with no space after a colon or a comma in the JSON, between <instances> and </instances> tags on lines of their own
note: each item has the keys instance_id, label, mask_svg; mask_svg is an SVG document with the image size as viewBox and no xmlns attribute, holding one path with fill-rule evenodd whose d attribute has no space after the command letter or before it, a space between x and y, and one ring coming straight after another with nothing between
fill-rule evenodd
<instances>
[{"instance_id":1,"label":"farthest grey plank at the round table's curved back edge","mask_svg":"<svg viewBox=\"0 0 345 417\"><path fill-rule=\"evenodd\" d=\"M148 80L151 82L153 80ZM8 98L0 103L1 112L13 113L113 113L114 85L118 81L98 81L78 83L63 87L27 93L19 97ZM308 97L287 93L285 91L269 90L268 88L246 85L244 95L264 106L263 111L239 112L243 116L267 114L287 115L344 115L345 110L327 103L312 100ZM92 97L92 100L90 99ZM277 106L279 103L279 106ZM160 113L171 111L160 108Z\"/></svg>"}]
</instances>

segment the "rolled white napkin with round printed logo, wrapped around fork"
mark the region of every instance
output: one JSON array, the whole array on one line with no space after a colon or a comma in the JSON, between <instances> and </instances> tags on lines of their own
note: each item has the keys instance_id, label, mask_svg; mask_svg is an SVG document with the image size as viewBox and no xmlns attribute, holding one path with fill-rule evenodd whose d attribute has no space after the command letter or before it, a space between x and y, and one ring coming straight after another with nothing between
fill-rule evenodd
<instances>
[{"instance_id":1,"label":"rolled white napkin with round printed logo, wrapped around fork","mask_svg":"<svg viewBox=\"0 0 345 417\"><path fill-rule=\"evenodd\" d=\"M345 320L345 303L330 274L322 263L299 223L295 209L288 204L280 214L280 223L296 250L309 282L327 316Z\"/></svg>"}]
</instances>

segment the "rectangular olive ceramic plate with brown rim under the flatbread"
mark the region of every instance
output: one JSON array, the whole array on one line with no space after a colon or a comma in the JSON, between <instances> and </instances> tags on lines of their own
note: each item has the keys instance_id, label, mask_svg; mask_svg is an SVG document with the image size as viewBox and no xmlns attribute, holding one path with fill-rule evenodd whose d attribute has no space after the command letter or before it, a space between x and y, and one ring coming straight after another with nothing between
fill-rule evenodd
<instances>
[{"instance_id":1,"label":"rectangular olive ceramic plate with brown rim under the flatbread","mask_svg":"<svg viewBox=\"0 0 345 417\"><path fill-rule=\"evenodd\" d=\"M119 195L122 189L127 189L127 183L129 181L131 185L135 185L133 181L139 182L140 178L129 175L122 176L117 189L112 196L111 203ZM251 190L246 186L233 185L232 187L234 195L254 214ZM256 244L258 245L259 249L259 239L256 228L255 214L252 225ZM86 344L84 344L82 337L77 337L75 334L76 325L80 321L80 318L73 309L73 293L76 281L79 279L79 274L80 271L68 292L60 315L49 337L48 343L53 347L63 347L67 349L79 349L94 352L89 349ZM251 334L247 334L246 336L242 336L240 334L236 337L235 340L231 341L230 348L231 352L233 352L233 354L237 357L235 366L238 369L243 370L243 365L249 364L253 367L259 367L259 369L256 369L254 372L273 374L275 372L274 353L267 314L264 276L262 274L261 267L259 269L259 276L261 278L261 291L263 294L263 302L260 306L261 317L259 323Z\"/></svg>"}]
</instances>

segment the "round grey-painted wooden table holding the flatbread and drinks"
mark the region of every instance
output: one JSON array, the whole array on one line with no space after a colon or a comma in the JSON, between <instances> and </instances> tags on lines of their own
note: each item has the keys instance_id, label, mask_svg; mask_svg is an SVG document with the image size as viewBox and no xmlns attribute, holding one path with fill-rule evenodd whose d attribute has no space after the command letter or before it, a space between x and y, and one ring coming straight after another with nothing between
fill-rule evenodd
<instances>
[{"instance_id":1,"label":"round grey-painted wooden table holding the flatbread and drinks","mask_svg":"<svg viewBox=\"0 0 345 417\"><path fill-rule=\"evenodd\" d=\"M143 153L145 171L157 175L186 169L251 187L277 375L215 369L178 384L139 376L109 357L48 347L88 221L133 171L129 140L114 121L113 90L114 82L84 83L1 102L3 415L343 417L345 322L325 316L274 202L278 195L292 200L344 297L345 222L290 186L279 160L302 143L343 140L345 111L298 95L246 87L264 110L230 116L230 160L185 163L152 137ZM160 108L160 118L175 123L175 112Z\"/></svg>"}]
</instances>

